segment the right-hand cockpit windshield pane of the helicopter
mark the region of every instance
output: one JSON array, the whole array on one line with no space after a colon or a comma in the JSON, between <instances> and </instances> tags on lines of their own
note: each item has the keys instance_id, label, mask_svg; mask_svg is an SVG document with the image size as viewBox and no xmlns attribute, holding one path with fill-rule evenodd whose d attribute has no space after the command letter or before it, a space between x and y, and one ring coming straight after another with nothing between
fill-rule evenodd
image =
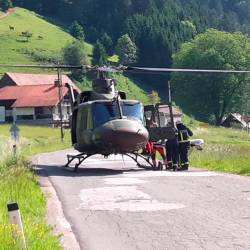
<instances>
[{"instance_id":1,"label":"right-hand cockpit windshield pane of the helicopter","mask_svg":"<svg viewBox=\"0 0 250 250\"><path fill-rule=\"evenodd\" d=\"M143 106L141 103L122 103L123 116L143 122Z\"/></svg>"}]
</instances>

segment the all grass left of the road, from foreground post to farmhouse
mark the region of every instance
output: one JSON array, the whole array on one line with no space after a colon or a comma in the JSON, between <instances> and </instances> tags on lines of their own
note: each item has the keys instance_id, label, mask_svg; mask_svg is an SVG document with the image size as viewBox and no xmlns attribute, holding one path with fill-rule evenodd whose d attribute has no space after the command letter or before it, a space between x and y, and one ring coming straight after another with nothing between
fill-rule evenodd
<instances>
[{"instance_id":1,"label":"all grass left of the road, from foreground post to farmhouse","mask_svg":"<svg viewBox=\"0 0 250 250\"><path fill-rule=\"evenodd\" d=\"M8 222L6 205L11 202L19 204L28 249L61 249L60 238L46 224L46 198L26 159L37 153L68 148L69 130L61 143L59 129L20 126L19 153L15 158L10 154L9 128L10 125L0 126L0 250L21 249L19 239L13 237L16 228Z\"/></svg>"}]
</instances>

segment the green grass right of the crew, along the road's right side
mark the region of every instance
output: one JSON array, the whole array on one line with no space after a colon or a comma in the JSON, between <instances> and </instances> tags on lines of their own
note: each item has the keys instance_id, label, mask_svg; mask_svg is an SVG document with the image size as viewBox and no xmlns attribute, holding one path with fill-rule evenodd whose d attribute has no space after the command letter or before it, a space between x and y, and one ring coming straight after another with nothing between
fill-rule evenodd
<instances>
[{"instance_id":1,"label":"green grass right of the crew, along the road's right side","mask_svg":"<svg viewBox=\"0 0 250 250\"><path fill-rule=\"evenodd\" d=\"M203 151L193 151L192 166L250 176L250 134L237 129L196 129L196 138L205 141Z\"/></svg>"}]
</instances>

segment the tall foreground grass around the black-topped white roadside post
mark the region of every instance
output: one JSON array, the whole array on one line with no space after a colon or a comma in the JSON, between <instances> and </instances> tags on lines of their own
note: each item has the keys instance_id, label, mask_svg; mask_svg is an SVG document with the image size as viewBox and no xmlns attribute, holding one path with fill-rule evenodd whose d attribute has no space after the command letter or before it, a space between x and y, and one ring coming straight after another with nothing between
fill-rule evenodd
<instances>
[{"instance_id":1,"label":"tall foreground grass around the black-topped white roadside post","mask_svg":"<svg viewBox=\"0 0 250 250\"><path fill-rule=\"evenodd\" d=\"M9 158L0 168L0 249L22 249L17 228L8 222L6 204L18 202L28 249L61 249L59 237L46 225L46 199L37 177L22 159Z\"/></svg>"}]
</instances>

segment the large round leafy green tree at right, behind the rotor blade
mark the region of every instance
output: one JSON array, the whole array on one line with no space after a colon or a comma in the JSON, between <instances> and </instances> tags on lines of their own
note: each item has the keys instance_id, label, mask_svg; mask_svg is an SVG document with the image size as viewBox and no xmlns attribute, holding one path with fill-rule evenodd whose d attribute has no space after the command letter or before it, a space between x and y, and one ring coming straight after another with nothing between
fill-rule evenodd
<instances>
[{"instance_id":1,"label":"large round leafy green tree at right, behind the rotor blade","mask_svg":"<svg viewBox=\"0 0 250 250\"><path fill-rule=\"evenodd\" d=\"M246 70L250 40L241 33L209 29L184 43L173 62L174 68ZM245 74L175 73L172 86L176 103L185 112L216 125L225 114L239 109L243 96L250 97L250 79Z\"/></svg>"}]
</instances>

